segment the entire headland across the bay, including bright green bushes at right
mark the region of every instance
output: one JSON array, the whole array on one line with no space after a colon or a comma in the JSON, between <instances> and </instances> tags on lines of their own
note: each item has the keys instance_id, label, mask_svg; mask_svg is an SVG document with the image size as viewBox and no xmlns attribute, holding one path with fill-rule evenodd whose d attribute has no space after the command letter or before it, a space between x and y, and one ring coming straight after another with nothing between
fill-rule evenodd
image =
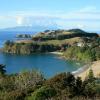
<instances>
[{"instance_id":1,"label":"entire headland across the bay, including bright green bushes at right","mask_svg":"<svg viewBox=\"0 0 100 100\"><path fill-rule=\"evenodd\" d=\"M32 54L59 51L70 60L96 61L100 59L100 37L80 29L46 30L30 41L6 41L3 51L14 54Z\"/></svg>"}]
</instances>

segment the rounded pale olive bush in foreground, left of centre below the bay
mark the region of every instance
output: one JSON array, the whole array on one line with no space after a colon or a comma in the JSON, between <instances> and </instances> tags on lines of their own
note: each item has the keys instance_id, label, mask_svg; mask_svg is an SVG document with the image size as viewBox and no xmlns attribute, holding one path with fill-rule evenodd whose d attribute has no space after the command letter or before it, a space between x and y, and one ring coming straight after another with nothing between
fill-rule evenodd
<instances>
[{"instance_id":1,"label":"rounded pale olive bush in foreground, left of centre below the bay","mask_svg":"<svg viewBox=\"0 0 100 100\"><path fill-rule=\"evenodd\" d=\"M43 76L36 71L26 71L19 73L15 77L15 86L18 90L34 90L40 87L44 81Z\"/></svg>"}]
</instances>

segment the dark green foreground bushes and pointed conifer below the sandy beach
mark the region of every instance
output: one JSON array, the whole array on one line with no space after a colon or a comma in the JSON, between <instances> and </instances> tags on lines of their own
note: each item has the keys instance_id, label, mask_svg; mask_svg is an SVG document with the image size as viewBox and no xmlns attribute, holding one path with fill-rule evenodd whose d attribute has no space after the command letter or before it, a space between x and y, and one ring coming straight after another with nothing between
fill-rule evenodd
<instances>
[{"instance_id":1,"label":"dark green foreground bushes and pointed conifer below the sandy beach","mask_svg":"<svg viewBox=\"0 0 100 100\"><path fill-rule=\"evenodd\" d=\"M96 100L100 95L100 85L95 82L96 79L91 72L90 70L89 76L84 81L80 77L75 78L71 73L56 75L46 80L28 100L48 100L48 98L49 100L80 100L80 98Z\"/></svg>"}]
</instances>

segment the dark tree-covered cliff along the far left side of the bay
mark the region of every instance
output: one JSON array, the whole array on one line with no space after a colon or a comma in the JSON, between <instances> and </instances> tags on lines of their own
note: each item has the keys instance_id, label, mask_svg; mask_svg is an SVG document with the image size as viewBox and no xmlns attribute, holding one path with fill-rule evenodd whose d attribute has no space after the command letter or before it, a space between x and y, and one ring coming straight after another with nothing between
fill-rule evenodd
<instances>
[{"instance_id":1,"label":"dark tree-covered cliff along the far left side of the bay","mask_svg":"<svg viewBox=\"0 0 100 100\"><path fill-rule=\"evenodd\" d=\"M5 44L3 51L15 54L32 54L60 50L60 46L48 43L14 43L13 45Z\"/></svg>"}]
</instances>

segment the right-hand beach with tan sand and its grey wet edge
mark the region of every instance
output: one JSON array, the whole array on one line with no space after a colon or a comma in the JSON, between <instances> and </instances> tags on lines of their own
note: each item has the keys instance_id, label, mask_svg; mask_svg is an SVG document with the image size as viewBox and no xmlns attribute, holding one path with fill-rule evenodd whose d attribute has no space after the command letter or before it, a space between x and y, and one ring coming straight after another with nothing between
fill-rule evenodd
<instances>
[{"instance_id":1,"label":"right-hand beach with tan sand and its grey wet edge","mask_svg":"<svg viewBox=\"0 0 100 100\"><path fill-rule=\"evenodd\" d=\"M75 77L81 77L82 80L84 80L87 77L90 69L93 70L95 77L100 77L100 60L93 62L92 65L85 65L82 69L78 69L73 74Z\"/></svg>"}]
</instances>

